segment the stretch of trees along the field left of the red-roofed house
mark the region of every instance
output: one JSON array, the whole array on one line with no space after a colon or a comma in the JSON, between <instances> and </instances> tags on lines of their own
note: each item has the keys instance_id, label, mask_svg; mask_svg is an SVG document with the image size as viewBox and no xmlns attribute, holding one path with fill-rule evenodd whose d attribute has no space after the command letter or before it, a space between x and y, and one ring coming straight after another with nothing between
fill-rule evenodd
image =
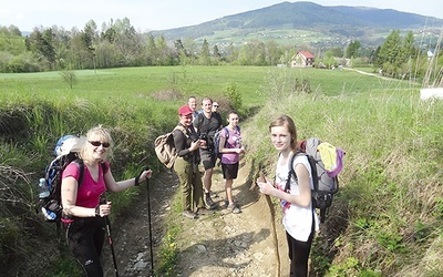
<instances>
[{"instance_id":1,"label":"stretch of trees along the field left of the red-roofed house","mask_svg":"<svg viewBox=\"0 0 443 277\"><path fill-rule=\"evenodd\" d=\"M101 29L93 20L83 30L38 27L27 37L14 25L0 27L0 71L10 73L178 64L275 65L282 55L290 59L291 54L293 49L275 42L248 42L240 49L233 43L210 48L207 40L199 47L190 38L169 42L163 35L137 32L127 18L104 22Z\"/></svg>"}]
</instances>

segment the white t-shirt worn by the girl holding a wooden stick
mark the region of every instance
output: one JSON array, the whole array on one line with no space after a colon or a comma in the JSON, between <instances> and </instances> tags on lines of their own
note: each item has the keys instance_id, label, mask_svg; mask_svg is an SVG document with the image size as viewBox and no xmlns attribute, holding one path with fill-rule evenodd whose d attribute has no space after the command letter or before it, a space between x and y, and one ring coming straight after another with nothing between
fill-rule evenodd
<instances>
[{"instance_id":1,"label":"white t-shirt worn by the girl holding a wooden stick","mask_svg":"<svg viewBox=\"0 0 443 277\"><path fill-rule=\"evenodd\" d=\"M289 165L286 164L280 164L281 155L278 158L277 162L277 171L276 171L276 185L279 189L285 191L286 182L288 178L289 174ZM291 161L291 156L288 158L288 163ZM313 189L313 184L312 184L312 174L311 174L311 167L309 165L308 158L303 155L299 155L296 157L293 161L293 172L296 171L296 165L297 164L302 164L308 170L309 173L309 184L311 186L311 189ZM299 186L295 179L295 177L291 177L291 183L290 183L290 188L289 193L291 195L300 195L300 189ZM300 242L307 242L309 238L309 235L311 234L312 229L312 213L313 213L313 218L315 218L315 229L319 229L319 219L317 216L317 213L313 212L312 209L312 203L309 204L308 207L301 207L292 203L288 203L286 201L280 201L280 205L284 212L284 218L282 218L282 224L285 226L285 229L288 232L288 234L293 237L297 240Z\"/></svg>"}]
</instances>

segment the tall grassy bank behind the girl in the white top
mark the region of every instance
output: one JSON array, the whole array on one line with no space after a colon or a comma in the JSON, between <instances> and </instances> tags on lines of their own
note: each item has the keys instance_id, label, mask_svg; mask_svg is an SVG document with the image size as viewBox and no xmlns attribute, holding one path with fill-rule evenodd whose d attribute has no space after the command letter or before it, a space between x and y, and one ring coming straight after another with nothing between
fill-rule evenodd
<instances>
[{"instance_id":1,"label":"tall grassy bank behind the girl in the white top","mask_svg":"<svg viewBox=\"0 0 443 277\"><path fill-rule=\"evenodd\" d=\"M271 102L245 129L256 164L275 167L264 137L279 114L295 119L299 137L347 152L340 193L312 250L318 276L441 276L443 103L421 102L401 83Z\"/></svg>"}]
</instances>

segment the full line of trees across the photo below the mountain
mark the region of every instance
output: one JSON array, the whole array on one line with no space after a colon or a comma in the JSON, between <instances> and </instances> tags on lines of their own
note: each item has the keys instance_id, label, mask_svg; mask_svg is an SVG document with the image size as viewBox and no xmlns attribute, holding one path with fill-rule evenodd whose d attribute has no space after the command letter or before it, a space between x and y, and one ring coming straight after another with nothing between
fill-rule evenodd
<instances>
[{"instance_id":1,"label":"full line of trees across the photo below the mountain","mask_svg":"<svg viewBox=\"0 0 443 277\"><path fill-rule=\"evenodd\" d=\"M155 38L136 31L127 18L103 22L100 29L93 20L82 30L37 27L25 37L14 25L0 27L0 72L8 73L227 63L269 66L290 64L299 50L316 55L315 66L371 65L389 76L420 76L426 66L426 59L421 59L425 51L415 47L413 33L402 39L399 30L392 31L377 49L363 48L357 40L346 47L313 49L258 40L240 47L234 43L210 47L206 39L197 45L192 38L167 41L163 35ZM443 64L441 60L439 64Z\"/></svg>"}]
</instances>

